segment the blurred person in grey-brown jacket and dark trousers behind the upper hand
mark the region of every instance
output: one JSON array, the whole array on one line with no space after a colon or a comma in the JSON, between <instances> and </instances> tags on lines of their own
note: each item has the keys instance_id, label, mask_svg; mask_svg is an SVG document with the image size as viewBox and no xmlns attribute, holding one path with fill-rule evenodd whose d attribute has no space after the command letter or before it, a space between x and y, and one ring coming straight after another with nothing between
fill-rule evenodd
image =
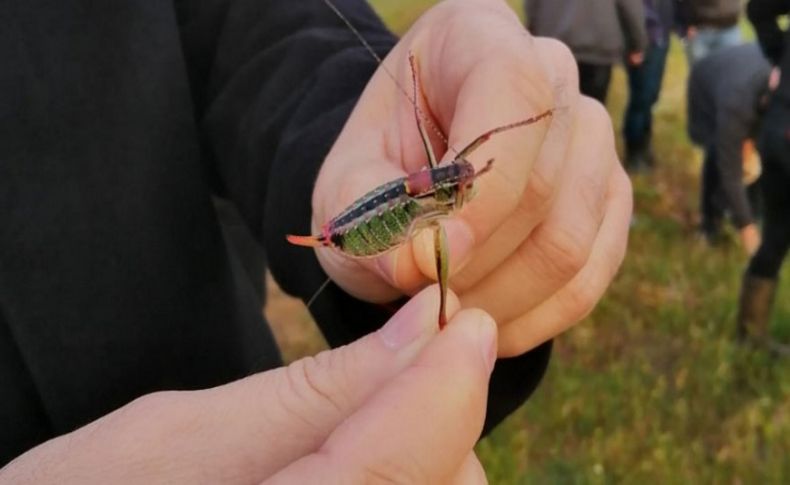
<instances>
[{"instance_id":1,"label":"blurred person in grey-brown jacket and dark trousers behind the upper hand","mask_svg":"<svg viewBox=\"0 0 790 485\"><path fill-rule=\"evenodd\" d=\"M642 0L525 0L527 28L564 42L582 94L606 104L612 66L642 63L648 46Z\"/></svg>"}]
</instances>

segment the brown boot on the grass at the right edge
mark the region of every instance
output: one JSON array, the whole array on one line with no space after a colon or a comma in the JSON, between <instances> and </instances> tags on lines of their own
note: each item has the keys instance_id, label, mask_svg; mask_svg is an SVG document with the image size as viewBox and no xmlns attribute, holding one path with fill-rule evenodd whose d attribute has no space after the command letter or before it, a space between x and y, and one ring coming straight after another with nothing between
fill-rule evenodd
<instances>
[{"instance_id":1,"label":"brown boot on the grass at the right edge","mask_svg":"<svg viewBox=\"0 0 790 485\"><path fill-rule=\"evenodd\" d=\"M739 342L751 343L779 355L790 355L790 346L768 335L777 280L745 274L738 303L736 332Z\"/></svg>"}]
</instances>

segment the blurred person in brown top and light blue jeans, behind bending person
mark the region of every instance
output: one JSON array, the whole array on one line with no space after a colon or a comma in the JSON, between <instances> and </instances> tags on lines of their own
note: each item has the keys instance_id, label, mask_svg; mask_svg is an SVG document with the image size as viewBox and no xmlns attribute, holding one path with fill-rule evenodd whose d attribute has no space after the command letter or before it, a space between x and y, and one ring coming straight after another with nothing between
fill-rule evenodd
<instances>
[{"instance_id":1,"label":"blurred person in brown top and light blue jeans, behind bending person","mask_svg":"<svg viewBox=\"0 0 790 485\"><path fill-rule=\"evenodd\" d=\"M693 65L718 49L741 43L742 0L678 0L677 23Z\"/></svg>"}]
</instances>

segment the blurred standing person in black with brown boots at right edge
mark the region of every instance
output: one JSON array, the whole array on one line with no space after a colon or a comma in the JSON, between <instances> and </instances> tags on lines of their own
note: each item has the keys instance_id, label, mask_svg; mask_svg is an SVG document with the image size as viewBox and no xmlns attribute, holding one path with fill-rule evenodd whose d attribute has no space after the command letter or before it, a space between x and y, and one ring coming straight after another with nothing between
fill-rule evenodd
<instances>
[{"instance_id":1,"label":"blurred standing person in black with brown boots at right edge","mask_svg":"<svg viewBox=\"0 0 790 485\"><path fill-rule=\"evenodd\" d=\"M741 340L787 355L790 348L770 339L768 329L779 271L790 248L790 31L779 26L780 17L790 13L790 1L752 0L747 11L760 47L775 67L758 139L763 162L763 241L743 277L737 333Z\"/></svg>"}]
</instances>

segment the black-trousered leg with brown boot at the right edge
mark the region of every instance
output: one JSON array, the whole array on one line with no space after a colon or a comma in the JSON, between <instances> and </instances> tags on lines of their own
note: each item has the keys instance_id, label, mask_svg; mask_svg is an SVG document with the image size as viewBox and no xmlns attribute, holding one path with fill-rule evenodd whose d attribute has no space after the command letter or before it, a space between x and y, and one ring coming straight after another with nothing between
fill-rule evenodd
<instances>
[{"instance_id":1,"label":"black-trousered leg with brown boot at the right edge","mask_svg":"<svg viewBox=\"0 0 790 485\"><path fill-rule=\"evenodd\" d=\"M773 342L768 328L777 278L790 248L790 108L773 107L766 114L760 136L763 175L763 240L743 278L737 332L765 343L777 352L790 348Z\"/></svg>"}]
</instances>

